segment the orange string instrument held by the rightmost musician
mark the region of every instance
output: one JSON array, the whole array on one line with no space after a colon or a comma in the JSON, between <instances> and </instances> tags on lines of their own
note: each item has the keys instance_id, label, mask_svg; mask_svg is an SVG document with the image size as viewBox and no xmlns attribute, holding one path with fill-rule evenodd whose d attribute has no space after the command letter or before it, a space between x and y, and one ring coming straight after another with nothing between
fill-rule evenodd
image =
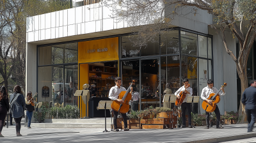
<instances>
[{"instance_id":1,"label":"orange string instrument held by the rightmost musician","mask_svg":"<svg viewBox=\"0 0 256 143\"><path fill-rule=\"evenodd\" d=\"M227 86L227 83L224 83L224 85L221 86L221 87L224 88L224 87L226 87L226 86ZM220 90L219 90L217 93L211 93L211 94L209 95L209 98L207 98L207 100L212 100L212 104L209 104L208 102L206 102L206 101L204 100L204 102L202 103L202 108L203 108L206 112L211 113L211 112L213 112L213 111L216 109L217 103L220 102L220 95L219 95L220 91L221 91L221 88L220 88Z\"/></svg>"}]
</instances>

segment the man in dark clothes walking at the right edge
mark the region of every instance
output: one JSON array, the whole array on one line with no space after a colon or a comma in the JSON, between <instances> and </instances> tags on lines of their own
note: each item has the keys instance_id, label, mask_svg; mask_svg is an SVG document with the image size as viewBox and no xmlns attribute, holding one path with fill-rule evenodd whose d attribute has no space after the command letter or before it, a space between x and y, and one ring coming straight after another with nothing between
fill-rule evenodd
<instances>
[{"instance_id":1,"label":"man in dark clothes walking at the right edge","mask_svg":"<svg viewBox=\"0 0 256 143\"><path fill-rule=\"evenodd\" d=\"M256 118L256 80L252 80L250 85L250 87L244 90L241 101L245 105L245 112L248 121L247 132L252 132Z\"/></svg>"}]
</instances>

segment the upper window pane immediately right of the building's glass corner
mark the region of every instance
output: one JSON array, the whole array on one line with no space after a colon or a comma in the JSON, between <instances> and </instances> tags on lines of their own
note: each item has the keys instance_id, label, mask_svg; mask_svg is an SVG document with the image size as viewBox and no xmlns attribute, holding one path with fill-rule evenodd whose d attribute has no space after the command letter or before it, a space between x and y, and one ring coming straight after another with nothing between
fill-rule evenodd
<instances>
[{"instance_id":1,"label":"upper window pane immediately right of the building's glass corner","mask_svg":"<svg viewBox=\"0 0 256 143\"><path fill-rule=\"evenodd\" d=\"M180 31L181 35L181 53L197 56L197 35Z\"/></svg>"}]
</instances>

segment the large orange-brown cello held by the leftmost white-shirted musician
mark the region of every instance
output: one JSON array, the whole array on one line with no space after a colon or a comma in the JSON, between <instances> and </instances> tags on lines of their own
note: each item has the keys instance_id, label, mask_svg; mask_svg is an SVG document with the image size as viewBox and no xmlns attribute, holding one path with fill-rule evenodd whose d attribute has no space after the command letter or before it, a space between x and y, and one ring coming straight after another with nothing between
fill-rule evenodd
<instances>
[{"instance_id":1,"label":"large orange-brown cello held by the leftmost white-shirted musician","mask_svg":"<svg viewBox=\"0 0 256 143\"><path fill-rule=\"evenodd\" d=\"M113 110L115 110L116 112L125 114L129 111L129 109L130 109L129 101L132 99L132 94L129 93L129 91L130 91L132 84L135 84L135 80L132 80L127 91L122 91L118 95L118 100L123 100L124 103L120 103L116 100L111 103L111 108Z\"/></svg>"}]
</instances>

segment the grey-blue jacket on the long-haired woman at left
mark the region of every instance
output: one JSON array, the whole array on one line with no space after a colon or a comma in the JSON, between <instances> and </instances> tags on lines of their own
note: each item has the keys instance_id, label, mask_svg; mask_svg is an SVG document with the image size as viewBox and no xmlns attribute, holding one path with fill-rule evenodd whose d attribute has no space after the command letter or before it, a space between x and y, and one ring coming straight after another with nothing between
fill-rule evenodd
<instances>
[{"instance_id":1,"label":"grey-blue jacket on the long-haired woman at left","mask_svg":"<svg viewBox=\"0 0 256 143\"><path fill-rule=\"evenodd\" d=\"M17 93L13 93L10 95L10 102L12 102L12 99L15 97L15 94ZM24 110L26 106L24 96L22 94L17 94L17 96L17 100L13 101L13 109L11 109L13 118L22 117L24 115Z\"/></svg>"}]
</instances>

